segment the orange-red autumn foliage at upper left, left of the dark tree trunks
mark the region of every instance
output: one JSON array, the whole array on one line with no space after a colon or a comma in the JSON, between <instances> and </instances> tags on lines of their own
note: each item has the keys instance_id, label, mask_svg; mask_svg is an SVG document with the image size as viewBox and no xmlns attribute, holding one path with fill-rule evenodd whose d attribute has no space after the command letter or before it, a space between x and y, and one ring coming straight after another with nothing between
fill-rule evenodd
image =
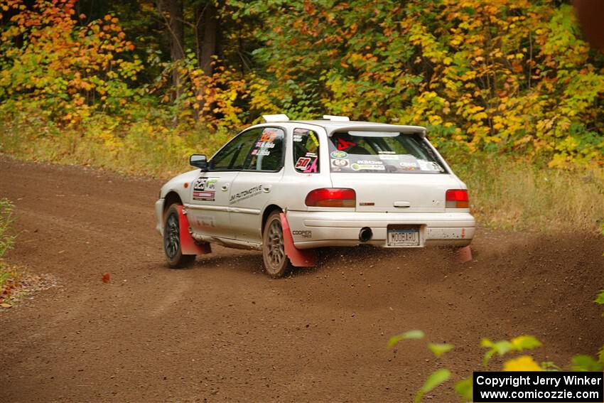
<instances>
[{"instance_id":1,"label":"orange-red autumn foliage at upper left, left of the dark tree trunks","mask_svg":"<svg viewBox=\"0 0 604 403\"><path fill-rule=\"evenodd\" d=\"M106 16L82 24L75 0L37 1L18 13L1 36L1 112L28 109L65 124L95 112L118 113L131 101L140 60L122 55L134 50L119 20ZM5 10L10 11L10 9ZM21 44L21 46L19 45Z\"/></svg>"}]
</instances>

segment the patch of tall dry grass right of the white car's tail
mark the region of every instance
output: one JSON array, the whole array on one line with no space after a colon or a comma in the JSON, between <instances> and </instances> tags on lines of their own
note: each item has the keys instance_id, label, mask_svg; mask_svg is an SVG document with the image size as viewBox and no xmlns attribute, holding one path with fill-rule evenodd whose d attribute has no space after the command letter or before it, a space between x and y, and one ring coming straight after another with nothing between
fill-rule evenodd
<instances>
[{"instance_id":1,"label":"patch of tall dry grass right of the white car's tail","mask_svg":"<svg viewBox=\"0 0 604 403\"><path fill-rule=\"evenodd\" d=\"M470 190L472 212L490 227L544 232L600 232L604 170L564 171L478 154L453 170Z\"/></svg>"}]
</instances>

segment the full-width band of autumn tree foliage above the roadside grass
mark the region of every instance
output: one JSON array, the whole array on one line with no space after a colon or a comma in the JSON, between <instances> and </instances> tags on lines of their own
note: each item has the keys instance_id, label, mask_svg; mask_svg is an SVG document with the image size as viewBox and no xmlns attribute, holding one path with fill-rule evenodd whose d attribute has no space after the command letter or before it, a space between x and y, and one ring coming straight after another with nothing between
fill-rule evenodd
<instances>
[{"instance_id":1,"label":"full-width band of autumn tree foliage above the roadside grass","mask_svg":"<svg viewBox=\"0 0 604 403\"><path fill-rule=\"evenodd\" d=\"M563 168L604 163L604 59L581 39L571 6L216 4L222 21L239 27L223 33L225 46L253 44L238 50L253 63L216 57L205 75L189 48L176 63L151 50L141 58L146 43L129 38L117 16L90 20L77 14L76 0L5 0L1 119L10 125L26 113L84 132L94 124L95 141L116 151L131 125L148 127L139 136L158 136L159 127L178 138L194 128L237 131L264 113L343 114L427 126L449 153L513 154Z\"/></svg>"}]
</instances>

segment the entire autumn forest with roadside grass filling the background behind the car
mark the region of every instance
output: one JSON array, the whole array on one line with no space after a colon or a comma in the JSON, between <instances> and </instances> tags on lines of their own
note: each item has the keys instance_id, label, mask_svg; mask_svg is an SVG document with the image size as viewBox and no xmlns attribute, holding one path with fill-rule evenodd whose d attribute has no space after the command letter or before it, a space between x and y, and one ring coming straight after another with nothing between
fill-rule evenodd
<instances>
[{"instance_id":1,"label":"entire autumn forest with roadside grass filling the background behind the car","mask_svg":"<svg viewBox=\"0 0 604 403\"><path fill-rule=\"evenodd\" d=\"M261 114L339 114L426 126L485 222L602 225L604 55L566 1L3 0L0 12L2 152L166 177ZM534 218L569 187L553 221Z\"/></svg>"}]
</instances>

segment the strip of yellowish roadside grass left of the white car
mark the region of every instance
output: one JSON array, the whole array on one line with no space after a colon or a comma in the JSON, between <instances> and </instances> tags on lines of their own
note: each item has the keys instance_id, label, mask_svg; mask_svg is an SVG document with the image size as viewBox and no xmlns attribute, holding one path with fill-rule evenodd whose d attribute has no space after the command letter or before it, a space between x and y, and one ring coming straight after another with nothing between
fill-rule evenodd
<instances>
[{"instance_id":1,"label":"strip of yellowish roadside grass left of the white car","mask_svg":"<svg viewBox=\"0 0 604 403\"><path fill-rule=\"evenodd\" d=\"M83 130L83 131L82 131ZM116 124L98 117L80 129L34 118L0 121L0 152L28 161L96 166L135 175L171 178L190 169L190 154L212 154L230 134L168 128L140 121Z\"/></svg>"}]
</instances>

